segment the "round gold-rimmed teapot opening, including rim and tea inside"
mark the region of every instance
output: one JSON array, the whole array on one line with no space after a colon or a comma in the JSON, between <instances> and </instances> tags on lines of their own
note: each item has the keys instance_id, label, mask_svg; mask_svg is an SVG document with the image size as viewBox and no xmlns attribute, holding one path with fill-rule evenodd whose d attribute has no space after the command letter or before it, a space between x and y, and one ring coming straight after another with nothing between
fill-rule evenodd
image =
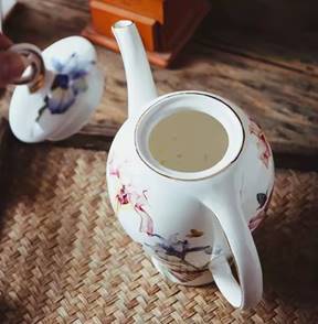
<instances>
[{"instance_id":1,"label":"round gold-rimmed teapot opening, including rim and tea inside","mask_svg":"<svg viewBox=\"0 0 318 324\"><path fill-rule=\"evenodd\" d=\"M179 180L219 173L237 159L243 143L244 129L233 108L199 91L160 97L135 129L140 159L161 175Z\"/></svg>"}]
</instances>

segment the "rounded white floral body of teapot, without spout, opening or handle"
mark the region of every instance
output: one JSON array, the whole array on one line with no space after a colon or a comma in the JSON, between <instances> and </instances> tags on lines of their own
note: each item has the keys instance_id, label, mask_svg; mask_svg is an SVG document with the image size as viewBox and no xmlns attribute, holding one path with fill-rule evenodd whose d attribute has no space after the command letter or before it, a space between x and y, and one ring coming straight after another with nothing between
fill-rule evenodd
<instances>
[{"instance_id":1,"label":"rounded white floral body of teapot, without spout, opening or handle","mask_svg":"<svg viewBox=\"0 0 318 324\"><path fill-rule=\"evenodd\" d=\"M239 204L253 231L264 219L274 185L274 162L264 132L234 104L209 96L226 102L244 130L235 161L216 174L180 180L149 168L136 147L138 116L123 125L107 160L109 198L125 231L144 246L161 273L189 285L211 282L213 260L231 258L220 218L200 197L209 197L210 205L221 209L229 205L235 209ZM230 217L240 216L234 213Z\"/></svg>"}]
</instances>

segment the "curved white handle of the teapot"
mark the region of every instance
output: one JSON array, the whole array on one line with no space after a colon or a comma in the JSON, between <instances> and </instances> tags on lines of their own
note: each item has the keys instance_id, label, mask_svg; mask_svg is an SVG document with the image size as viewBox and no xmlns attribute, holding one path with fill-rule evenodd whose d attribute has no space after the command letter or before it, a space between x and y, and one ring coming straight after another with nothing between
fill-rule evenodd
<instances>
[{"instance_id":1,"label":"curved white handle of the teapot","mask_svg":"<svg viewBox=\"0 0 318 324\"><path fill-rule=\"evenodd\" d=\"M257 250L241 206L203 202L219 220L236 266L239 282L234 278L225 256L219 256L210 263L212 277L225 296L235 307L255 306L262 299L263 274ZM213 205L213 207L212 207ZM212 209L213 208L213 209ZM216 208L216 210L215 210Z\"/></svg>"}]
</instances>

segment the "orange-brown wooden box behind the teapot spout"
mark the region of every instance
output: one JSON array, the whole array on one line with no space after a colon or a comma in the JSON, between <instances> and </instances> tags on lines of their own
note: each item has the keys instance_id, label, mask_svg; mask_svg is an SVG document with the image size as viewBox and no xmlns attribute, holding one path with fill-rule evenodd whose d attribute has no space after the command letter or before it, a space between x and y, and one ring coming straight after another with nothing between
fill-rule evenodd
<instances>
[{"instance_id":1,"label":"orange-brown wooden box behind the teapot spout","mask_svg":"<svg viewBox=\"0 0 318 324\"><path fill-rule=\"evenodd\" d=\"M83 34L118 51L112 25L128 19L136 23L150 62L167 66L210 10L209 0L92 0L92 25Z\"/></svg>"}]
</instances>

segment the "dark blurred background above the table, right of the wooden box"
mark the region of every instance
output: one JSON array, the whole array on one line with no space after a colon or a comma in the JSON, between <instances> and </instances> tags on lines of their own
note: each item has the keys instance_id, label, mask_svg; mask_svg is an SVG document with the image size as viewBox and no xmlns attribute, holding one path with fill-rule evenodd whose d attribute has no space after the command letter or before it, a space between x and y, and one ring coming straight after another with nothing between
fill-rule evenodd
<instances>
[{"instance_id":1,"label":"dark blurred background above the table, right of the wooden box","mask_svg":"<svg viewBox=\"0 0 318 324\"><path fill-rule=\"evenodd\" d=\"M210 0L212 26L242 28L277 36L318 30L316 0Z\"/></svg>"}]
</instances>

